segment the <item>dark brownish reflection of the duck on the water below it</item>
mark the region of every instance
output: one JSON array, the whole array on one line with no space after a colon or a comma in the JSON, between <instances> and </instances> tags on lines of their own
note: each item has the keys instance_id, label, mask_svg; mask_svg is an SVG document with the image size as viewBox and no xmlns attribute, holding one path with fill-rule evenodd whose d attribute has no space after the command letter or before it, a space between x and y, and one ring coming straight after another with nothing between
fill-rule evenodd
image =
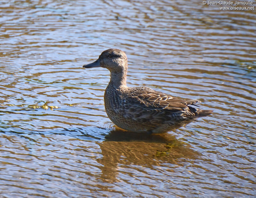
<instances>
[{"instance_id":1,"label":"dark brownish reflection of the duck on the water below it","mask_svg":"<svg viewBox=\"0 0 256 198\"><path fill-rule=\"evenodd\" d=\"M172 131L179 127L173 127ZM121 166L182 165L185 160L195 159L199 155L170 133L149 135L113 129L105 138L105 141L99 142L103 157L97 160L103 165L101 179L105 182L115 181L118 167Z\"/></svg>"}]
</instances>

